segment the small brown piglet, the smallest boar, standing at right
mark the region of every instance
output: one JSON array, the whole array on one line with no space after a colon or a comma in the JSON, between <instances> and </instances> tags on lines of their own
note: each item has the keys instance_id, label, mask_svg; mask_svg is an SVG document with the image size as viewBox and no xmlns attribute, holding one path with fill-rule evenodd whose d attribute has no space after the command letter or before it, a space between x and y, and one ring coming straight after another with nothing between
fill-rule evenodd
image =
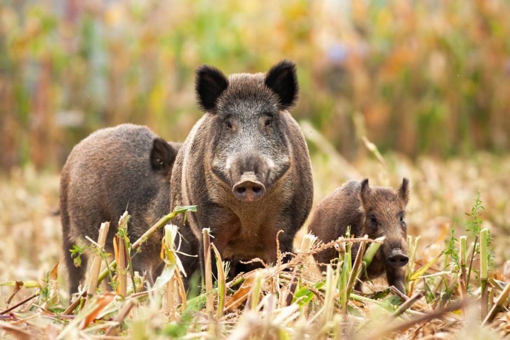
<instances>
[{"instance_id":1,"label":"small brown piglet, the smallest boar, standing at right","mask_svg":"<svg viewBox=\"0 0 510 340\"><path fill-rule=\"evenodd\" d=\"M327 195L317 206L309 230L323 242L330 242L345 235L350 226L351 235L371 239L385 236L372 264L368 267L370 279L386 273L389 285L404 291L404 269L407 257L407 231L404 222L405 207L409 201L409 181L404 178L397 191L373 187L368 179L362 182L349 180L342 187ZM352 259L359 244L352 247ZM319 264L327 264L338 257L334 248L314 255ZM321 266L323 269L324 267ZM361 289L359 282L358 289Z\"/></svg>"}]
</instances>

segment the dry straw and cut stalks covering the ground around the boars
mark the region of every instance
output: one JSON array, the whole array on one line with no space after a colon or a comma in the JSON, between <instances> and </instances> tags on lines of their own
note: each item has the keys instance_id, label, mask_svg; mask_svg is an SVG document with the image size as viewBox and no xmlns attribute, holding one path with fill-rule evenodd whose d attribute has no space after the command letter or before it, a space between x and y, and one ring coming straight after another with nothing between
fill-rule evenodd
<instances>
[{"instance_id":1,"label":"dry straw and cut stalks covering the ground around the boars","mask_svg":"<svg viewBox=\"0 0 510 340\"><path fill-rule=\"evenodd\" d=\"M305 127L303 130L305 134L310 133ZM452 159L440 163L423 158L413 164L390 154L385 156L385 165L377 158L366 158L350 164L344 171L336 166L343 162L339 155L326 156L327 152L320 152L320 145L315 147L319 149L312 160L315 202L353 172L380 184L396 184L404 174L411 177L414 187L407 214L411 234L411 261L406 274L408 296L398 296L394 290L379 284L384 282L368 282L364 292L352 291L354 278L358 273L363 275L363 270L358 269L368 259L355 260L352 268L350 261L344 264L342 260L348 257L349 243L363 242L370 249L376 247L372 240L357 238L321 245L301 232L296 239L296 254L289 264L265 267L230 282L224 274L227 265L214 252L214 239L210 239L213 253L209 254L214 254L216 265L213 266L220 273L218 281L211 277L213 282L208 283L207 292L195 292L197 296L186 298L183 273L176 256L179 250L174 249L172 242L178 236L175 228L165 227L171 223L170 215L151 228L153 231L165 227L167 233L162 248L166 268L154 286L141 290L142 273L131 273L129 264L114 272L115 266L110 265L111 278L108 271L89 275L83 292L94 277L98 281L113 278L116 282L125 274L125 294L109 293L105 284L99 283L91 295L83 294L86 300L76 299L73 308L68 308L65 275L59 267L60 223L57 216L50 215L58 202L58 177L26 169L0 180L3 235L0 337L468 339L482 335L484 338L509 336L510 263L505 264L505 260L510 257L507 249L510 206L506 195L510 188L507 176L510 159L477 154L469 161ZM386 170L381 171L381 167ZM381 173L392 176L382 178ZM473 213L471 207L477 204L478 190L482 203ZM456 232L452 236L453 226ZM472 230L465 231L467 227ZM485 237L484 228L492 236L487 248L480 243ZM460 234L467 237L459 238ZM475 240L477 245L473 247ZM98 240L93 241L100 245ZM131 249L140 242L135 242ZM323 276L310 254L335 246L340 250L340 262L338 266L329 266ZM121 248L117 247L117 251L122 251ZM488 256L481 256L482 251ZM136 256L136 252L131 254ZM493 257L489 258L491 254ZM102 262L105 267L105 261ZM482 284L486 289L480 289ZM484 308L487 317L482 318Z\"/></svg>"}]
</instances>

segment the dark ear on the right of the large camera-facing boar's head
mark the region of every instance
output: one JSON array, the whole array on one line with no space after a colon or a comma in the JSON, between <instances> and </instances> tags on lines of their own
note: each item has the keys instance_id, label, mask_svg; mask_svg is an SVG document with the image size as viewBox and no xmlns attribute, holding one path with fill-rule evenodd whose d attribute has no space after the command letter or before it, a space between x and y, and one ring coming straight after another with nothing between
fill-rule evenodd
<instances>
[{"instance_id":1,"label":"dark ear on the right of the large camera-facing boar's head","mask_svg":"<svg viewBox=\"0 0 510 340\"><path fill-rule=\"evenodd\" d=\"M274 65L266 74L266 86L279 97L280 109L293 107L297 101L296 65L290 60L283 60Z\"/></svg>"}]
</instances>

